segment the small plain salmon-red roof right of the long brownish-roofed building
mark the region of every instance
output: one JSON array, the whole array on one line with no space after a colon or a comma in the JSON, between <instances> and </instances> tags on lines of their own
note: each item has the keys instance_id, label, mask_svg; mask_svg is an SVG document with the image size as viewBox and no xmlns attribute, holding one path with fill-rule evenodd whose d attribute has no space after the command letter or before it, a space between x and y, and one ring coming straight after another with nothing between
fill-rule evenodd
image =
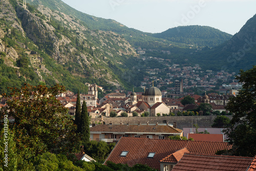
<instances>
[{"instance_id":1,"label":"small plain salmon-red roof right of the long brownish-roofed building","mask_svg":"<svg viewBox=\"0 0 256 171\"><path fill-rule=\"evenodd\" d=\"M188 134L187 137L193 138L195 141L224 142L223 134Z\"/></svg>"}]
</instances>

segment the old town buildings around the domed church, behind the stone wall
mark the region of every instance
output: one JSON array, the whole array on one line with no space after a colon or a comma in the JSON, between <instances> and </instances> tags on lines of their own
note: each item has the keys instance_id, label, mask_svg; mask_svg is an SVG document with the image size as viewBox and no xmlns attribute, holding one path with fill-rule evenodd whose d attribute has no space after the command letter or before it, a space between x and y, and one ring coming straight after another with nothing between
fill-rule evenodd
<instances>
[{"instance_id":1,"label":"old town buildings around the domed church, behind the stone wall","mask_svg":"<svg viewBox=\"0 0 256 171\"><path fill-rule=\"evenodd\" d=\"M98 89L103 90L96 84L88 85L88 94L80 94L80 102L86 101L88 114L92 118L110 117L110 113L114 111L117 117L122 113L127 113L127 116L132 117L133 113L138 113L141 116L144 112L148 112L149 116L167 116L173 114L174 116L189 110L197 109L201 103L208 103L212 107L212 111L226 112L225 105L229 101L230 96L234 96L233 91L229 94L219 95L210 93L208 95L200 96L196 94L187 94L195 99L195 103L182 104L184 96L182 94L182 85L177 83L175 91L182 96L181 98L166 98L166 91L160 91L157 87L150 87L144 92L128 92L125 93L109 93L102 98L98 98ZM236 90L237 92L237 90ZM63 106L69 109L69 114L74 115L76 109L77 94L71 91L66 91L56 97Z\"/></svg>"}]
</instances>

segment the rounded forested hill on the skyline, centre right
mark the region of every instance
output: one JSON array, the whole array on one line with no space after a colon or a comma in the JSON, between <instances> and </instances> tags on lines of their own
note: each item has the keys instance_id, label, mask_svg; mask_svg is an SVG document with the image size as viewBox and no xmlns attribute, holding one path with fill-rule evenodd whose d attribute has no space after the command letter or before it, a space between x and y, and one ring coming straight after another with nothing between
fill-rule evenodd
<instances>
[{"instance_id":1,"label":"rounded forested hill on the skyline, centre right","mask_svg":"<svg viewBox=\"0 0 256 171\"><path fill-rule=\"evenodd\" d=\"M208 26L179 26L162 33L155 33L153 36L173 42L208 47L221 45L232 37L231 34Z\"/></svg>"}]
</instances>

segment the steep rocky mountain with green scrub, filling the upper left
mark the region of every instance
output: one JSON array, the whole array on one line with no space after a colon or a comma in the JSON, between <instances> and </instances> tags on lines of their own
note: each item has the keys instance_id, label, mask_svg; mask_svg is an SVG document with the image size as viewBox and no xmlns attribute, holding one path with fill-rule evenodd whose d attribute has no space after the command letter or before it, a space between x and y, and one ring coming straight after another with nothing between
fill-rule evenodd
<instances>
[{"instance_id":1,"label":"steep rocky mountain with green scrub, filling the upper left","mask_svg":"<svg viewBox=\"0 0 256 171\"><path fill-rule=\"evenodd\" d=\"M25 8L23 1L10 0L0 7L1 93L25 81L60 83L74 92L85 92L86 82L105 89L132 84L122 73L135 75L129 65L136 51L119 34L91 30L75 16L42 5Z\"/></svg>"}]
</instances>

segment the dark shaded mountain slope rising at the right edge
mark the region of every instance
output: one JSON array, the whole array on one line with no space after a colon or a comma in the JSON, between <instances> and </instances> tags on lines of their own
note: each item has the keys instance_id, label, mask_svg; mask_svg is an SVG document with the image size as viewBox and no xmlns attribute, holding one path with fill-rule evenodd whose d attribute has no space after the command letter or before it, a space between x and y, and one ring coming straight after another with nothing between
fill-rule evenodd
<instances>
[{"instance_id":1,"label":"dark shaded mountain slope rising at the right edge","mask_svg":"<svg viewBox=\"0 0 256 171\"><path fill-rule=\"evenodd\" d=\"M256 65L256 14L222 45L191 56L190 61L207 63L207 68L239 72Z\"/></svg>"}]
</instances>

